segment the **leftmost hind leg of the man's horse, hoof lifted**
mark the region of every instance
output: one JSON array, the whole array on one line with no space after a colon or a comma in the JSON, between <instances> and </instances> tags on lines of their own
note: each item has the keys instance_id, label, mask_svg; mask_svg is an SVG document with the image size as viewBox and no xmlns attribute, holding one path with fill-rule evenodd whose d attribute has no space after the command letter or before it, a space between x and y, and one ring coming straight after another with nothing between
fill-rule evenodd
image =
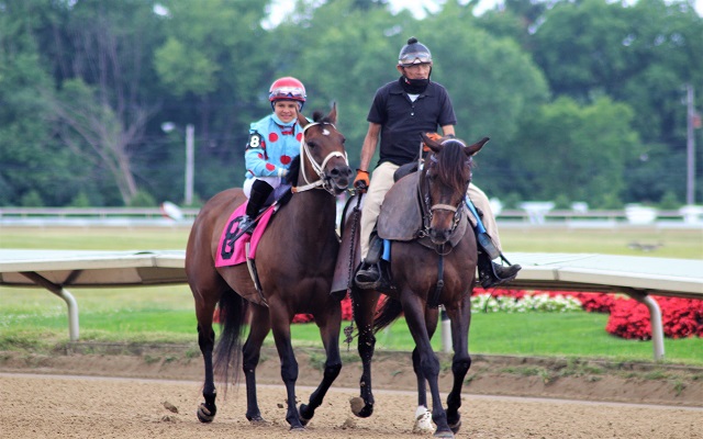
<instances>
[{"instance_id":1,"label":"leftmost hind leg of the man's horse, hoof lifted","mask_svg":"<svg viewBox=\"0 0 703 439\"><path fill-rule=\"evenodd\" d=\"M357 350L361 358L361 379L359 380L360 397L352 399L352 413L360 418L367 418L373 414L373 392L371 389L371 359L376 347L373 336L373 315L378 304L379 293L361 291L357 288L352 291L354 320L359 331Z\"/></svg>"}]
</instances>

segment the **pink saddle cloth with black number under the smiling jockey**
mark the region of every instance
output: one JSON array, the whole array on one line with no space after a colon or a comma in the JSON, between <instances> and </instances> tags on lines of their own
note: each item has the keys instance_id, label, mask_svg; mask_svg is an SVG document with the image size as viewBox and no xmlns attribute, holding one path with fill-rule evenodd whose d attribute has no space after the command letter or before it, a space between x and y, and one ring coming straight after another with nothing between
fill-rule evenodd
<instances>
[{"instance_id":1,"label":"pink saddle cloth with black number under the smiling jockey","mask_svg":"<svg viewBox=\"0 0 703 439\"><path fill-rule=\"evenodd\" d=\"M215 267L228 267L236 266L243 262L246 262L246 244L249 244L249 259L254 259L256 255L256 248L258 247L259 241L261 240L261 236L264 235L264 230L268 225L268 222L271 219L271 215L274 215L275 209L268 209L264 212L264 215L259 219L258 224L254 228L254 232L249 236L249 234L244 234L236 241L232 241L237 234L237 228L239 223L235 219L239 216L244 215L246 212L247 203L242 204L237 209L232 212L230 215L230 219L222 230L220 235L220 245L217 246L217 255L215 259Z\"/></svg>"}]
</instances>

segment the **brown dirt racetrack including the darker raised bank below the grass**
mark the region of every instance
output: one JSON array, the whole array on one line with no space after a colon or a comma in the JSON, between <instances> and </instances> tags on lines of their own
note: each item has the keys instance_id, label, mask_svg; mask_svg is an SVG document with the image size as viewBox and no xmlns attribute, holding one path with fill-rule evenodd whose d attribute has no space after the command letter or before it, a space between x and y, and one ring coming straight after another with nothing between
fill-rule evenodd
<instances>
[{"instance_id":1,"label":"brown dirt racetrack including the darker raised bank below the grass","mask_svg":"<svg viewBox=\"0 0 703 439\"><path fill-rule=\"evenodd\" d=\"M409 361L404 356L391 354L379 356L378 360L372 417L359 419L352 415L349 398L358 395L358 390L353 389L358 369L354 363L345 363L306 432L298 436L422 437L412 434L416 396L412 392L412 368L408 373ZM475 360L472 371L476 371L465 385L464 426L457 437L703 438L700 371L670 375L678 380L676 384L670 379L646 380L636 373L626 376L606 373L598 379L593 374L511 375L496 373L496 361ZM309 385L320 376L317 370L309 367L311 362L306 354L299 354L299 401L306 402ZM194 412L201 402L200 364L199 358L176 359L154 353L27 358L2 352L0 438L260 439L291 435L284 420L286 392L278 384L276 359L264 361L258 371L259 381L268 383L259 387L259 405L267 426L252 426L244 417L244 386L231 387L225 398L221 385L215 420L209 425L198 421ZM658 375L666 376L661 373ZM448 389L446 375L442 386ZM533 397L489 396L489 393Z\"/></svg>"}]
</instances>

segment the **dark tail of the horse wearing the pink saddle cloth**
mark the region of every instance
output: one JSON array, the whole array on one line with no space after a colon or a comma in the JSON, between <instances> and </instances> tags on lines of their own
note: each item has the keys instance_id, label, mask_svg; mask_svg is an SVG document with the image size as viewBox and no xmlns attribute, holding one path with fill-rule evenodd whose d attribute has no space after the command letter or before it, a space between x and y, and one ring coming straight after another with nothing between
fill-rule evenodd
<instances>
[{"instance_id":1,"label":"dark tail of the horse wearing the pink saddle cloth","mask_svg":"<svg viewBox=\"0 0 703 439\"><path fill-rule=\"evenodd\" d=\"M234 382L239 381L242 335L246 323L247 303L233 290L227 290L217 304L222 334L214 351L214 371L224 382L225 392L230 381L230 368L234 368Z\"/></svg>"}]
</instances>

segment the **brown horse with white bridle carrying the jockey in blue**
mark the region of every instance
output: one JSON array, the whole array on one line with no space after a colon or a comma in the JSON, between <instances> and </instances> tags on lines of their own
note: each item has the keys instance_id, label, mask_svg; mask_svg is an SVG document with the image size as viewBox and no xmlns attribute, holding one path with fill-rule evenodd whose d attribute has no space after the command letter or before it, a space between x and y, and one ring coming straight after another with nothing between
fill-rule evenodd
<instances>
[{"instance_id":1,"label":"brown horse with white bridle carrying the jockey in blue","mask_svg":"<svg viewBox=\"0 0 703 439\"><path fill-rule=\"evenodd\" d=\"M274 330L276 348L281 361L281 376L287 390L286 420L291 429L302 429L313 417L339 374L339 301L330 295L338 238L335 232L335 195L349 184L352 169L344 149L344 136L335 128L336 105L322 117L313 115L309 122L302 114L298 123L303 127L300 156L294 160L299 170L289 180L292 195L270 219L256 251L256 267L260 291L246 264L215 267L219 239L232 212L246 201L238 188L217 193L202 207L193 223L186 251L186 274L196 300L198 345L205 365L204 402L198 408L202 423L213 420L215 385L213 373L213 313L220 308L223 331L214 350L215 371L225 383L230 367L242 363L246 380L246 417L263 423L256 395L256 367L261 344ZM298 179L305 184L297 185ZM298 313L314 316L327 354L324 376L309 403L295 407L298 362L293 353L290 324ZM249 334L242 347L244 326L249 320Z\"/></svg>"}]
</instances>

